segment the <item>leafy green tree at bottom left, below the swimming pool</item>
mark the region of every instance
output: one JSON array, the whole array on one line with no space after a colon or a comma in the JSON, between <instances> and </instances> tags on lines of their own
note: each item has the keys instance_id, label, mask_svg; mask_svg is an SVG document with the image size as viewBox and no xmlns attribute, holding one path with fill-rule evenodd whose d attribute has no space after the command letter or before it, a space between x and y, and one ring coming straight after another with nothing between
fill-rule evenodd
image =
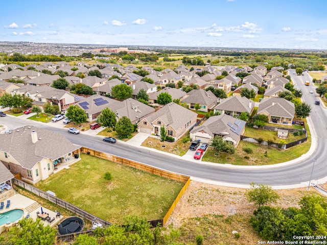
<instances>
[{"instance_id":1,"label":"leafy green tree at bottom left, below the swimming pool","mask_svg":"<svg viewBox=\"0 0 327 245\"><path fill-rule=\"evenodd\" d=\"M49 245L55 243L57 230L44 226L40 219L25 218L19 225L12 227L7 235L8 244L39 244Z\"/></svg>"}]
</instances>

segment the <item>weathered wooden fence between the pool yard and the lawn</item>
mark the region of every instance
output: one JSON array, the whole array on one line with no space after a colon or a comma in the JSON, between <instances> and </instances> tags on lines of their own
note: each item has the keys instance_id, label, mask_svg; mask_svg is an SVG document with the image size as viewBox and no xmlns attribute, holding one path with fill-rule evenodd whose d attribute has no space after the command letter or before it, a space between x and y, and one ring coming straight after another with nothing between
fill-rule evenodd
<instances>
[{"instance_id":1,"label":"weathered wooden fence between the pool yard and the lawn","mask_svg":"<svg viewBox=\"0 0 327 245\"><path fill-rule=\"evenodd\" d=\"M22 187L22 188L24 188L24 189L38 195L39 197L44 198L44 199L46 199L46 200L48 200L48 201L50 201L52 203L55 203L56 205L58 205L60 207L63 207L65 209L69 210L69 211L72 211L72 212L80 215L81 217L90 220L91 222L94 219L96 219L97 222L102 224L102 226L112 225L112 223L107 222L106 220L104 220L102 218L99 218L99 217L97 217L95 215L92 215L92 214L84 211L83 209L80 209L79 207L76 207L75 205L73 205L71 203L67 203L66 201L63 201L62 199L57 198L52 194L46 193L43 190L40 190L40 189L30 185L30 184L27 184L24 181L13 179L13 182L15 183L15 185L18 185L18 186L20 186L20 187Z\"/></svg>"}]
</instances>

